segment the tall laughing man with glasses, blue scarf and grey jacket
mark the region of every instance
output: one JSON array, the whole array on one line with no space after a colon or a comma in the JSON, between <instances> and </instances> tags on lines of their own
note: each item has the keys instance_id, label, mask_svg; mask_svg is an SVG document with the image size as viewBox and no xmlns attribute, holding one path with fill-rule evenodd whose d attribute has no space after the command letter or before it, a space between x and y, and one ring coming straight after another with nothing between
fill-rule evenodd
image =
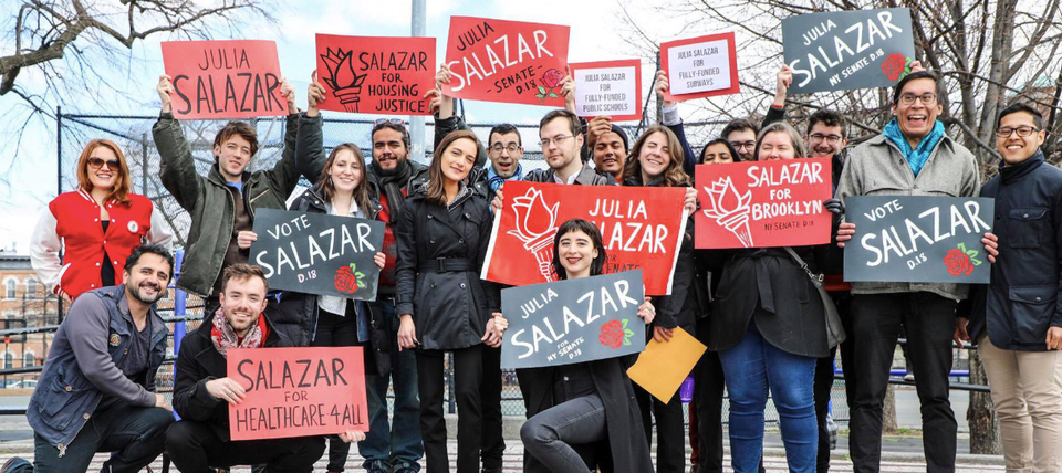
<instances>
[{"instance_id":1,"label":"tall laughing man with glasses, blue scarf and grey jacket","mask_svg":"<svg viewBox=\"0 0 1062 473\"><path fill-rule=\"evenodd\" d=\"M937 75L918 71L902 78L893 93L893 119L882 133L856 147L845 162L836 197L975 197L980 170L974 155L947 136L937 120L943 106ZM837 245L858 239L855 224L841 223ZM986 233L985 250L995 262L996 236ZM851 407L850 451L856 472L881 469L882 407L900 327L906 328L922 403L923 444L929 472L955 471L957 424L948 400L956 306L969 287L950 283L852 283L851 367L858 371ZM847 360L845 360L847 365Z\"/></svg>"}]
</instances>

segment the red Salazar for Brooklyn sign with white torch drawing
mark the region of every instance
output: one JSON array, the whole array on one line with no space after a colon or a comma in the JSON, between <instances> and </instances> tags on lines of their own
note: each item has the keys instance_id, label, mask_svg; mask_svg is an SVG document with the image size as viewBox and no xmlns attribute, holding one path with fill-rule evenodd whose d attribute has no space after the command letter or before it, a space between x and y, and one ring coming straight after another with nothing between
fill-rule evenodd
<instances>
[{"instance_id":1,"label":"red Salazar for Brooklyn sign with white torch drawing","mask_svg":"<svg viewBox=\"0 0 1062 473\"><path fill-rule=\"evenodd\" d=\"M801 246L830 242L831 158L700 165L697 248Z\"/></svg>"}]
</instances>

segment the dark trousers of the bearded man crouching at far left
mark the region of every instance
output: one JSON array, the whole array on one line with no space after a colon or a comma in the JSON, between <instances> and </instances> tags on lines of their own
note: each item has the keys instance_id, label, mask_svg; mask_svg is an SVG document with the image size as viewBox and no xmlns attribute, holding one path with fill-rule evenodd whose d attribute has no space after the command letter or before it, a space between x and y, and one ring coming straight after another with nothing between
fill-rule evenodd
<instances>
[{"instance_id":1,"label":"dark trousers of the bearded man crouching at far left","mask_svg":"<svg viewBox=\"0 0 1062 473\"><path fill-rule=\"evenodd\" d=\"M66 445L63 456L59 456L59 449L34 434L32 471L83 472L96 452L115 452L104 463L104 471L136 473L166 450L166 429L174 420L174 414L165 409L121 403L93 412L77 437Z\"/></svg>"}]
</instances>

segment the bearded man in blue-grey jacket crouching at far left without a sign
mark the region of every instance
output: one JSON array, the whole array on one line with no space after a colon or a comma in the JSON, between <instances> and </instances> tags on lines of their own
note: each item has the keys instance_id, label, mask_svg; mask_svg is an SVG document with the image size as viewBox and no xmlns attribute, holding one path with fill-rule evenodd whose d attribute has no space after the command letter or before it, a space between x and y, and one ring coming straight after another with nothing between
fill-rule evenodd
<instances>
[{"instance_id":1,"label":"bearded man in blue-grey jacket crouching at far left without a sign","mask_svg":"<svg viewBox=\"0 0 1062 473\"><path fill-rule=\"evenodd\" d=\"M133 249L124 285L84 293L63 319L33 391L33 465L9 460L4 473L84 472L96 452L114 452L104 472L136 472L163 453L174 422L155 371L166 356L166 295L174 256L157 244Z\"/></svg>"}]
</instances>

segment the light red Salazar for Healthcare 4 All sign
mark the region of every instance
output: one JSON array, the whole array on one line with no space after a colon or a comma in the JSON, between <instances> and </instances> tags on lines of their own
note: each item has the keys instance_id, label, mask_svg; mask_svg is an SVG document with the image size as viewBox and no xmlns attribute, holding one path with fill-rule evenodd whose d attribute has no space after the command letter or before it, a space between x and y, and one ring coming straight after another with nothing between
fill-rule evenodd
<instances>
[{"instance_id":1,"label":"light red Salazar for Healthcare 4 All sign","mask_svg":"<svg viewBox=\"0 0 1062 473\"><path fill-rule=\"evenodd\" d=\"M229 404L232 440L368 432L362 347L241 348L226 359L247 390Z\"/></svg>"}]
</instances>

